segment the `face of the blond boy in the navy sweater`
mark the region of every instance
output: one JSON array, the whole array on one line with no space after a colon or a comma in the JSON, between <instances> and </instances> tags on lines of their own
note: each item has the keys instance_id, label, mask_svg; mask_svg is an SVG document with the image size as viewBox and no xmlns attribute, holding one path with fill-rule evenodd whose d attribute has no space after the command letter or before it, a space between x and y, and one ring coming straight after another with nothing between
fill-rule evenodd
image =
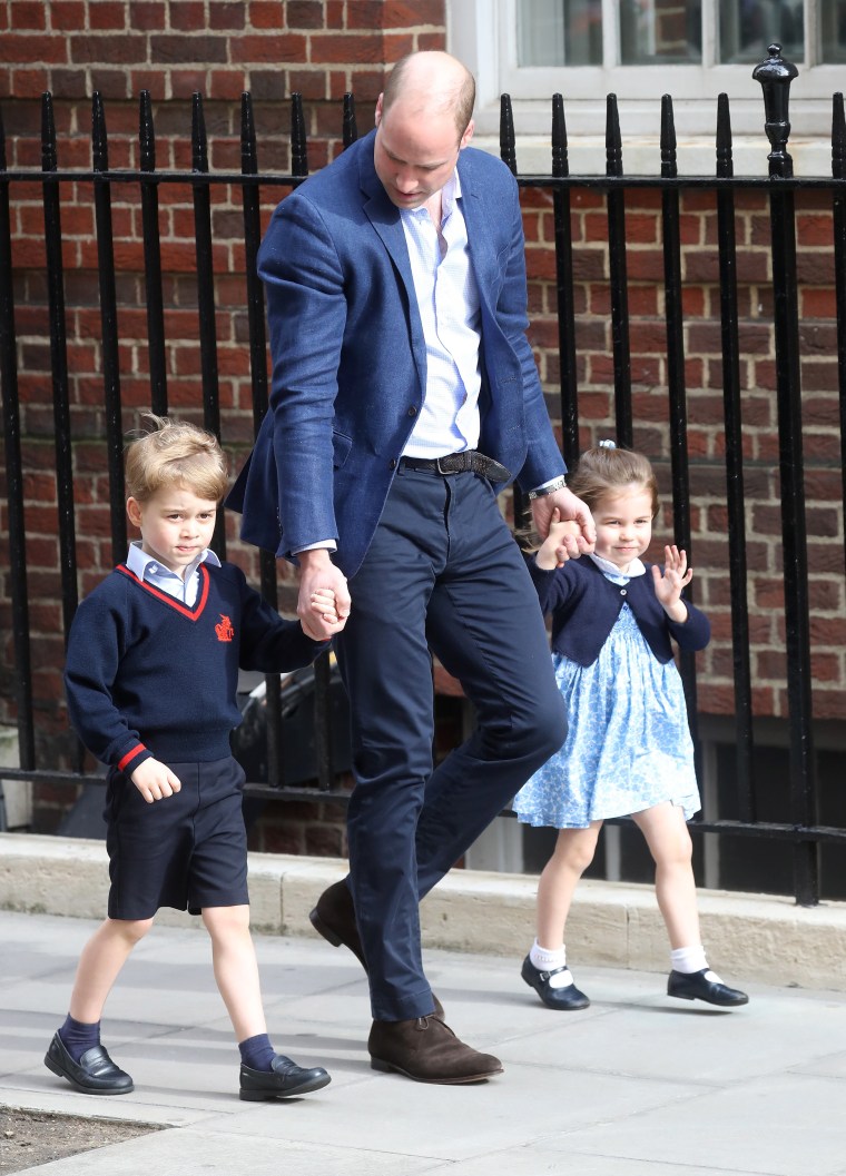
<instances>
[{"instance_id":1,"label":"face of the blond boy in the navy sweater","mask_svg":"<svg viewBox=\"0 0 846 1176\"><path fill-rule=\"evenodd\" d=\"M156 490L146 502L127 499L126 513L141 532L141 550L182 577L212 541L218 503L173 485Z\"/></svg>"}]
</instances>

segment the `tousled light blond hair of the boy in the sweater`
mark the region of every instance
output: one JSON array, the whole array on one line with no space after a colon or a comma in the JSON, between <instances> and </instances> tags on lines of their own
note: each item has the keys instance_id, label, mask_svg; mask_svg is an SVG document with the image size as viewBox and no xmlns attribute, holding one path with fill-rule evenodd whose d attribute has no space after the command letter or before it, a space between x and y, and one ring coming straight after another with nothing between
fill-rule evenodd
<instances>
[{"instance_id":1,"label":"tousled light blond hair of the boy in the sweater","mask_svg":"<svg viewBox=\"0 0 846 1176\"><path fill-rule=\"evenodd\" d=\"M199 499L220 502L228 473L218 439L187 421L145 413L153 429L126 449L126 493L146 502L164 486L184 486Z\"/></svg>"}]
</instances>

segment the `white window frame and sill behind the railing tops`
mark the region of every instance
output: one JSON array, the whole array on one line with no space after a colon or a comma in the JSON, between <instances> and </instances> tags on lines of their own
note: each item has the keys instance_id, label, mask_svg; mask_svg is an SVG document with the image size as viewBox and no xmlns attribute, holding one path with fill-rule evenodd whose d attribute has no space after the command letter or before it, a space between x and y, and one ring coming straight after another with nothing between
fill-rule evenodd
<instances>
[{"instance_id":1,"label":"white window frame and sill behind the railing tops","mask_svg":"<svg viewBox=\"0 0 846 1176\"><path fill-rule=\"evenodd\" d=\"M604 56L619 59L618 0L602 0ZM797 61L799 76L791 86L791 141L788 149L797 173L831 173L832 94L842 91L846 67L813 61L817 45L815 0L805 0L806 61ZM717 98L728 94L735 146L735 173L766 172L764 99L753 80L754 65L715 65L718 0L702 0L702 64L615 67L519 68L517 65L517 0L447 0L447 48L477 79L477 145L498 149L500 94L512 96L521 172L546 172L538 154L548 139L551 99L564 95L571 172L604 171L606 95L618 95L624 139L624 166L628 174L657 172L654 149L660 133L661 95L673 98L679 139L680 171L714 171ZM644 151L626 148L637 139ZM800 168L801 161L801 168ZM639 166L632 166L638 163ZM740 166L738 166L740 165Z\"/></svg>"}]
</instances>

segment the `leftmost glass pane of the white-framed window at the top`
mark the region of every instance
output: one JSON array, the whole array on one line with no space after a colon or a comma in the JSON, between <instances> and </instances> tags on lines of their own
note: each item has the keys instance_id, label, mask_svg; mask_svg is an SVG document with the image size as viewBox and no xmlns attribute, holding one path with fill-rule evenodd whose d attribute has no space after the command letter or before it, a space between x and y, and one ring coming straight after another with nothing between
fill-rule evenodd
<instances>
[{"instance_id":1,"label":"leftmost glass pane of the white-framed window at the top","mask_svg":"<svg viewBox=\"0 0 846 1176\"><path fill-rule=\"evenodd\" d=\"M518 0L520 66L600 66L602 0Z\"/></svg>"}]
</instances>

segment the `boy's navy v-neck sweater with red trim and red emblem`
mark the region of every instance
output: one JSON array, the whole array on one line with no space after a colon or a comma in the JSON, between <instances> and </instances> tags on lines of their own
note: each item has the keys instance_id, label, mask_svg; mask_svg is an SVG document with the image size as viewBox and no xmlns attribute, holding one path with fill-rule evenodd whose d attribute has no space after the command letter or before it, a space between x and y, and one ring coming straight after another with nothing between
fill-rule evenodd
<instances>
[{"instance_id":1,"label":"boy's navy v-neck sweater with red trim and red emblem","mask_svg":"<svg viewBox=\"0 0 846 1176\"><path fill-rule=\"evenodd\" d=\"M233 563L201 564L188 607L120 564L76 610L65 686L88 750L127 774L149 756L221 760L241 721L238 669L307 666L326 643L285 621Z\"/></svg>"}]
</instances>

